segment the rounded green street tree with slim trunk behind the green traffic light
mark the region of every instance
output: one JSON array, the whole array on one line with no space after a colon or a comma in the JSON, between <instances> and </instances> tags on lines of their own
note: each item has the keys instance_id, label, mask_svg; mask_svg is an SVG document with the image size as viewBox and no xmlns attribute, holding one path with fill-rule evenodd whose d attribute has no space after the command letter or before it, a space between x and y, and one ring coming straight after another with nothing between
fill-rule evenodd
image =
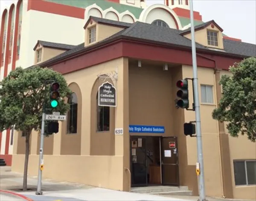
<instances>
[{"instance_id":1,"label":"rounded green street tree with slim trunk behind the green traffic light","mask_svg":"<svg viewBox=\"0 0 256 201\"><path fill-rule=\"evenodd\" d=\"M50 109L49 106L50 86L45 84L46 80L54 80L60 84L59 104L54 109ZM52 114L58 111L64 115L69 109L64 98L70 94L71 91L65 78L48 68L22 69L18 67L0 82L0 131L15 126L15 130L22 131L26 138L23 190L27 190L29 139L33 129L36 131L41 129L44 103L46 108L49 108L47 113Z\"/></svg>"}]
</instances>

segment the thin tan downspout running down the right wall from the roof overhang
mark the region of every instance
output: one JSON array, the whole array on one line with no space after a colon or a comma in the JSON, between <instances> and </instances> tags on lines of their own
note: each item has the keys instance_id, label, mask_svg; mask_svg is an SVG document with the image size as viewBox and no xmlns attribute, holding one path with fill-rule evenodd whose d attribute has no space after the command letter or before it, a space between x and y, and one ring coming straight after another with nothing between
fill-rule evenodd
<instances>
[{"instance_id":1,"label":"thin tan downspout running down the right wall from the roof overhang","mask_svg":"<svg viewBox=\"0 0 256 201\"><path fill-rule=\"evenodd\" d=\"M216 107L218 107L218 100L217 100L217 83L216 83L216 72L218 70L218 67L217 67L217 63L216 63L216 60L212 59L212 58L209 58L209 57L206 57L204 55L201 55L201 54L198 54L196 53L196 55L200 56L200 57L203 57L205 59L208 59L208 60L211 60L215 63L215 67L214 67L214 85L215 85L215 102L216 102ZM219 161L220 161L220 165L221 165L221 196L222 198L226 198L224 196L224 187L223 187L223 170L222 170L222 161L221 161L221 138L220 138L220 131L219 131L219 123L217 123L217 129L218 129L218 141L219 141Z\"/></svg>"}]
</instances>

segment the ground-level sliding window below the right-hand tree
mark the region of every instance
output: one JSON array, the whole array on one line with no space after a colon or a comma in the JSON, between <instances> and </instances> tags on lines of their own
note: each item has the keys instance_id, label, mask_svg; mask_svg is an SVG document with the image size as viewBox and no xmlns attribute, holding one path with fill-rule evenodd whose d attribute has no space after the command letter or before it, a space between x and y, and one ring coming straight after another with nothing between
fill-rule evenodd
<instances>
[{"instance_id":1,"label":"ground-level sliding window below the right-hand tree","mask_svg":"<svg viewBox=\"0 0 256 201\"><path fill-rule=\"evenodd\" d=\"M233 161L235 184L256 185L256 160Z\"/></svg>"}]
</instances>

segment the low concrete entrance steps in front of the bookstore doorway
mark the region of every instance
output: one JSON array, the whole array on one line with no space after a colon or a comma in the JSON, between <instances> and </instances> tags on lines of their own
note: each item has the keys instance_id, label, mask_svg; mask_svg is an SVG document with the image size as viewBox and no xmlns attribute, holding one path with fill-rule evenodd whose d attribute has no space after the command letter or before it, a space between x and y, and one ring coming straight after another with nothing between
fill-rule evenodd
<instances>
[{"instance_id":1,"label":"low concrete entrance steps in front of the bookstore doorway","mask_svg":"<svg viewBox=\"0 0 256 201\"><path fill-rule=\"evenodd\" d=\"M154 195L192 195L192 191L190 191L189 188L185 186L132 187L131 192L154 194Z\"/></svg>"}]
</instances>

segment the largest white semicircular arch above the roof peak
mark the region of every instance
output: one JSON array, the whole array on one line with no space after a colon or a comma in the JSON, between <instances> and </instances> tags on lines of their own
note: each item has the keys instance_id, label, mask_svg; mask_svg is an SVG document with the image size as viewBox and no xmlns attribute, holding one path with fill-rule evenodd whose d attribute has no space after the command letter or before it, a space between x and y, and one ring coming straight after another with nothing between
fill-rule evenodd
<instances>
[{"instance_id":1,"label":"largest white semicircular arch above the roof peak","mask_svg":"<svg viewBox=\"0 0 256 201\"><path fill-rule=\"evenodd\" d=\"M182 28L177 14L168 6L162 4L154 4L145 8L140 14L139 21L151 24L154 20L158 20L158 16L161 16L160 20L166 22L170 28Z\"/></svg>"}]
</instances>

